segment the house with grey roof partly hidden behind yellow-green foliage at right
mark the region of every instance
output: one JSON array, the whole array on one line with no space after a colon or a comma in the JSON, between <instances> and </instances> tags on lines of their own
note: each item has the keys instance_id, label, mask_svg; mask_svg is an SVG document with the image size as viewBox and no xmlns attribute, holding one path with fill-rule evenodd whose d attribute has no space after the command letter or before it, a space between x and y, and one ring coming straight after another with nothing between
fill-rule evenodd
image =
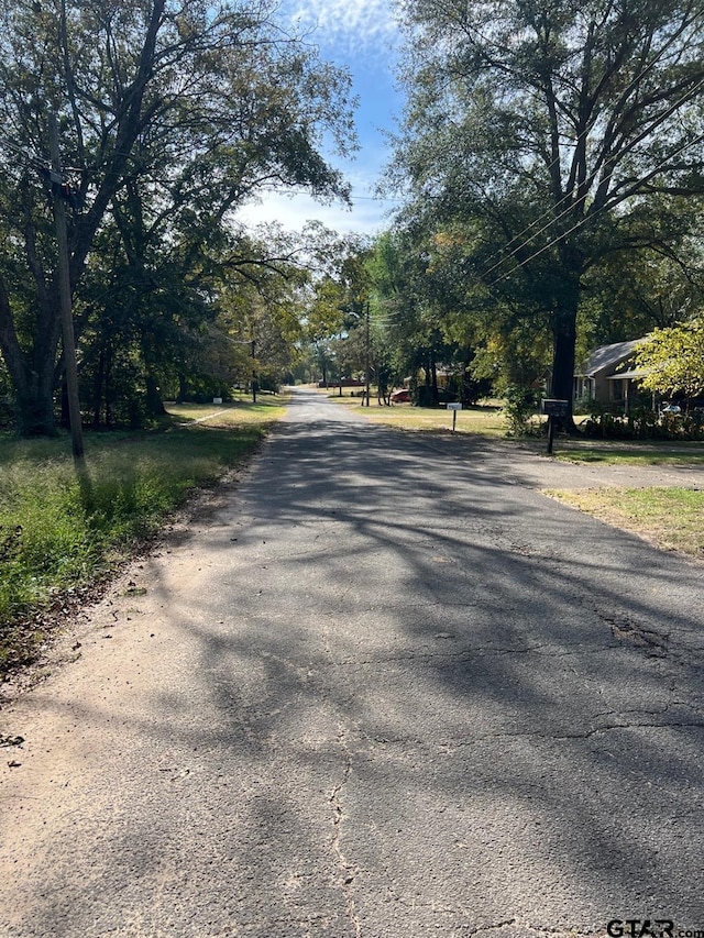
<instances>
[{"instance_id":1,"label":"house with grey roof partly hidden behind yellow-green foliage at right","mask_svg":"<svg viewBox=\"0 0 704 938\"><path fill-rule=\"evenodd\" d=\"M600 404L623 405L628 410L629 400L638 394L644 368L632 364L636 347L642 339L616 342L595 349L582 368L574 375L575 401L596 400Z\"/></svg>"}]
</instances>

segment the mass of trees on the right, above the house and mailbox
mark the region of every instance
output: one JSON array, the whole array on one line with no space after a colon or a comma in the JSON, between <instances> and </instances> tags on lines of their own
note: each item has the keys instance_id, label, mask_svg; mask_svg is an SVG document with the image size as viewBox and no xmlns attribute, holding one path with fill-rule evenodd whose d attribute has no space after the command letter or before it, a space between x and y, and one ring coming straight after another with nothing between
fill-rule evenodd
<instances>
[{"instance_id":1,"label":"mass of trees on the right, above the house and mailbox","mask_svg":"<svg viewBox=\"0 0 704 938\"><path fill-rule=\"evenodd\" d=\"M703 4L403 10L396 283L428 341L571 401L591 347L701 314Z\"/></svg>"}]
</instances>

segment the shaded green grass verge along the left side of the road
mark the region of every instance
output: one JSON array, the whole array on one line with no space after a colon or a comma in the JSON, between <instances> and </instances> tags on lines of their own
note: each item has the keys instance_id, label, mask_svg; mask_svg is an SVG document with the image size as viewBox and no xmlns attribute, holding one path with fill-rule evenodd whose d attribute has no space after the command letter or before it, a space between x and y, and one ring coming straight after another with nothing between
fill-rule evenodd
<instances>
[{"instance_id":1,"label":"shaded green grass verge along the left side of the road","mask_svg":"<svg viewBox=\"0 0 704 938\"><path fill-rule=\"evenodd\" d=\"M80 472L67 438L0 437L0 674L36 655L68 597L240 465L284 402L179 405L157 433L86 433Z\"/></svg>"}]
</instances>

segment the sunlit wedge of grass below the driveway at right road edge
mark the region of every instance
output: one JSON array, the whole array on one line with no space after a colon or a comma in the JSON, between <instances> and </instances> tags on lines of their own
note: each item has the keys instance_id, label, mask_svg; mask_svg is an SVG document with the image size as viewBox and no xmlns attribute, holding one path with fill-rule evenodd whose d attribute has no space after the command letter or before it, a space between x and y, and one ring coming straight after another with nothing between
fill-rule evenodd
<instances>
[{"instance_id":1,"label":"sunlit wedge of grass below the driveway at right road edge","mask_svg":"<svg viewBox=\"0 0 704 938\"><path fill-rule=\"evenodd\" d=\"M647 538L661 550L704 560L704 492L692 488L550 490L608 525Z\"/></svg>"}]
</instances>

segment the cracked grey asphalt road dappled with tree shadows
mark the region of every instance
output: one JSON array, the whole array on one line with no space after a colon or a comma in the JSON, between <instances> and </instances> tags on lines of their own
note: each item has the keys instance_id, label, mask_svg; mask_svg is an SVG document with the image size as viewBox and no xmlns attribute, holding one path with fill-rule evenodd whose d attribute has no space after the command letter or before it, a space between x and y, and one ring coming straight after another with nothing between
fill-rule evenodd
<instances>
[{"instance_id":1,"label":"cracked grey asphalt road dappled with tree shadows","mask_svg":"<svg viewBox=\"0 0 704 938\"><path fill-rule=\"evenodd\" d=\"M535 466L297 394L0 714L2 938L704 929L702 567Z\"/></svg>"}]
</instances>

